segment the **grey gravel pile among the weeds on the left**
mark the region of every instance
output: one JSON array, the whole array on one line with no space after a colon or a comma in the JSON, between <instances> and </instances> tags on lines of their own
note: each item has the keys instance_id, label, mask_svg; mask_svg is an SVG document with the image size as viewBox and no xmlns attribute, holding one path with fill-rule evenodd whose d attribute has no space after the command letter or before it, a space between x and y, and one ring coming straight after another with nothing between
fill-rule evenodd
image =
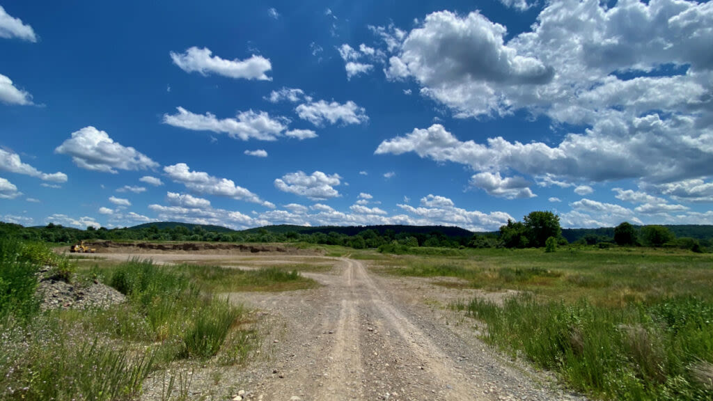
<instances>
[{"instance_id":1,"label":"grey gravel pile among the weeds on the left","mask_svg":"<svg viewBox=\"0 0 713 401\"><path fill-rule=\"evenodd\" d=\"M41 310L106 309L111 305L126 301L125 295L96 281L93 283L66 283L66 281L52 277L49 266L40 270L39 281L37 294L41 300Z\"/></svg>"}]
</instances>

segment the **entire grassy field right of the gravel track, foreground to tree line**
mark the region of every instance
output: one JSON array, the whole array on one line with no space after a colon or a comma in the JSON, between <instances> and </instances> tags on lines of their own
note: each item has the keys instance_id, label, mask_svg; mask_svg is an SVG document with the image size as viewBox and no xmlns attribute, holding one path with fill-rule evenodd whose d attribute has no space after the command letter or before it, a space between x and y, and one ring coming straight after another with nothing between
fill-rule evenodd
<instances>
[{"instance_id":1,"label":"entire grassy field right of the gravel track, foreground to tree line","mask_svg":"<svg viewBox=\"0 0 713 401\"><path fill-rule=\"evenodd\" d=\"M713 255L650 248L456 250L377 255L393 275L518 290L451 305L484 339L607 400L713 400ZM444 285L453 285L452 280Z\"/></svg>"}]
</instances>

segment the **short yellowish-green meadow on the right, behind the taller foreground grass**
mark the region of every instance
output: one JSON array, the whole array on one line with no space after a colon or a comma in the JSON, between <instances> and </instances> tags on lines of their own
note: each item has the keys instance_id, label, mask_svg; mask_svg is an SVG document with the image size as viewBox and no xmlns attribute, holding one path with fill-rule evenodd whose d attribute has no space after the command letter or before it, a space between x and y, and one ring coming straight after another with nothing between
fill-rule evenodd
<instances>
[{"instance_id":1,"label":"short yellowish-green meadow on the right, behind the taller foreground grass","mask_svg":"<svg viewBox=\"0 0 713 401\"><path fill-rule=\"evenodd\" d=\"M693 295L713 301L713 255L644 248L468 249L452 257L390 255L376 271L458 277L484 290L520 290L545 299L622 307ZM379 265L384 267L379 268ZM445 271L443 266L447 266Z\"/></svg>"}]
</instances>

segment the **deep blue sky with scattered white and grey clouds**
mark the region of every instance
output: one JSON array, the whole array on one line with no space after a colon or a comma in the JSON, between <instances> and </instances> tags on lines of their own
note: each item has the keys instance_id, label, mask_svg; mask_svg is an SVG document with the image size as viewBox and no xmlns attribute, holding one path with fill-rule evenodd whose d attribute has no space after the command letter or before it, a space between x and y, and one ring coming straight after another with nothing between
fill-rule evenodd
<instances>
[{"instance_id":1,"label":"deep blue sky with scattered white and grey clouds","mask_svg":"<svg viewBox=\"0 0 713 401\"><path fill-rule=\"evenodd\" d=\"M0 220L713 224L713 4L0 0Z\"/></svg>"}]
</instances>

